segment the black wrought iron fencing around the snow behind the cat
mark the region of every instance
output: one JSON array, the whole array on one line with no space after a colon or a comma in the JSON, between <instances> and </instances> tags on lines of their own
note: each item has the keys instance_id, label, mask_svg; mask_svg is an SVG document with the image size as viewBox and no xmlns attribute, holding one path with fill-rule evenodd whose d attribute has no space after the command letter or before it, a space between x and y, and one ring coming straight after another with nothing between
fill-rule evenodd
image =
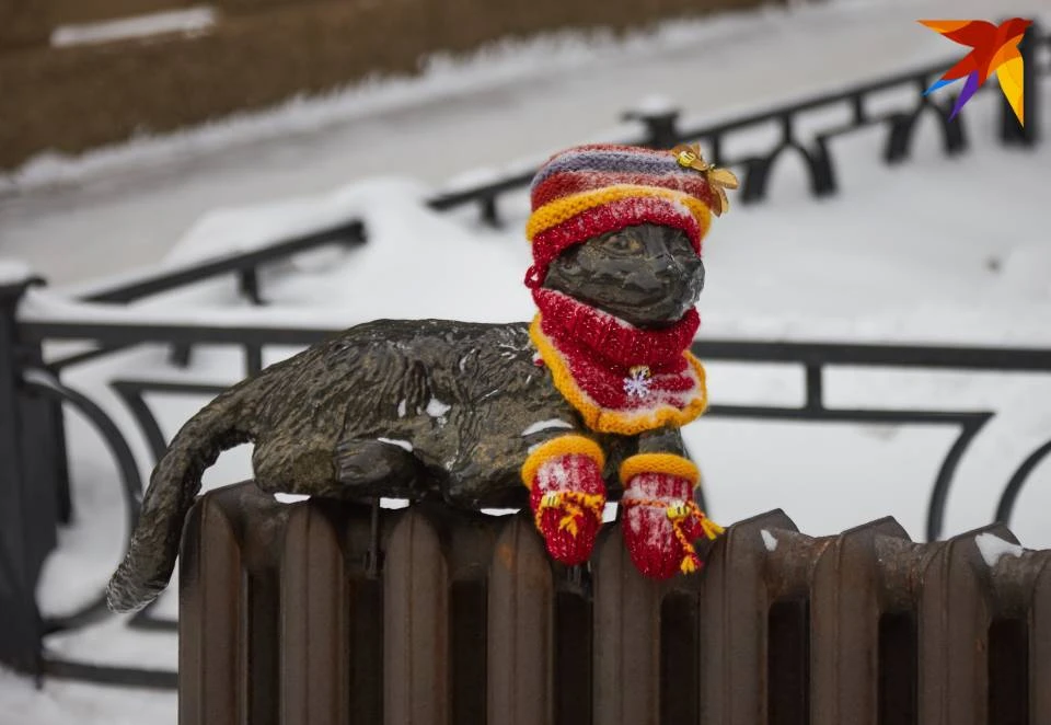
<instances>
[{"instance_id":1,"label":"black wrought iron fencing around the snow behind the cat","mask_svg":"<svg viewBox=\"0 0 1051 725\"><path fill-rule=\"evenodd\" d=\"M1024 50L1027 72L1033 78L1051 70L1051 64L1038 60L1038 48L1051 48L1051 36L1030 32ZM1051 54L1049 54L1051 55ZM709 146L719 163L742 169L744 197L763 198L770 169L786 151L796 151L807 159L811 189L827 194L835 189L835 174L830 141L838 136L871 125L889 129L885 159L899 161L908 156L915 120L921 113L935 113L940 119L945 151L955 153L966 148L966 136L960 117L949 122L949 104L921 96L912 110L874 115L867 112L866 99L878 91L903 87L922 90L944 67L925 68L896 76L892 79L863 84L839 93L787 104L760 114L751 114L718 125L681 129L673 113L645 116L647 136L625 139L668 147L683 140L702 140ZM1002 137L1007 142L1033 145L1039 140L1039 83L1027 80L1027 113L1029 123L1019 129L1005 108ZM854 113L852 122L842 127L825 129L813 139L799 139L796 118L799 114L834 104L848 104ZM749 129L762 123L778 123L782 138L765 154L741 159L724 159L725 138L735 131ZM1014 124L1014 126L1012 125ZM511 189L529 183L529 174L517 174L499 182L472 189L443 194L430 200L437 209L450 209L477 204L483 217L497 221L497 199ZM178 288L218 275L236 275L239 287L255 303L264 301L259 290L257 268L321 244L359 244L366 240L360 222L350 221L339 228L302 238L282 240L258 250L185 265L176 269L138 276L117 285L107 285L79 295L81 302L120 304L150 295ZM38 281L38 280L36 280ZM106 411L81 392L61 381L62 373L78 365L145 343L170 345L177 354L176 361L188 360L194 345L221 344L244 350L245 373L262 368L263 350L267 346L305 346L323 340L335 330L291 329L275 326L219 327L205 324L155 324L152 322L86 322L82 318L62 315L19 314L20 300L26 287L35 280L12 281L0 288L0 494L8 503L0 509L0 611L4 624L0 626L0 660L31 672L78 677L100 681L124 682L150 687L174 687L174 674L142 668L101 667L48 658L42 649L42 638L51 632L77 629L107 617L101 597L88 602L80 611L60 619L42 619L33 595L41 565L55 545L57 527L68 522L71 515L66 444L62 419L63 406L80 411L97 429L115 460L122 476L122 491L127 518L134 521L141 497L139 463L128 444L128 435L141 435L155 461L165 446L165 436L157 423L145 395L165 392L183 395L213 394L218 388L195 383L159 382L149 379L111 381L112 389L124 401L139 427L138 431L122 430ZM91 348L72 355L45 358L44 342L88 341ZM911 423L931 426L956 426L955 444L947 452L929 495L926 533L931 540L942 533L945 504L956 468L970 442L994 416L995 411L917 411L917 410L847 410L829 407L822 396L824 372L838 366L876 366L897 369L937 368L943 370L998 370L1016 372L1051 372L1051 350L1006 349L948 346L807 344L785 342L698 341L695 352L707 360L739 362L783 362L801 366L806 371L806 402L799 407L764 405L714 405L713 416L743 417L775 421L825 421L841 423ZM1020 461L1007 482L995 513L998 521L1008 521L1012 507L1028 475L1048 454L1051 441ZM152 462L152 461L151 461ZM100 583L100 591L102 583ZM174 630L175 622L164 621L146 611L130 622L135 628Z\"/></svg>"}]
</instances>

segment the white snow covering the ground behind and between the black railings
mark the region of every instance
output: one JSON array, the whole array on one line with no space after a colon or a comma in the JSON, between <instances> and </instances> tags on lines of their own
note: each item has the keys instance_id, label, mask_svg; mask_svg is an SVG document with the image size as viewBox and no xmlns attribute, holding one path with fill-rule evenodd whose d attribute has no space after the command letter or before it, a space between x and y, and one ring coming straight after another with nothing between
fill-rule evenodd
<instances>
[{"instance_id":1,"label":"white snow covering the ground behind and between the black railings","mask_svg":"<svg viewBox=\"0 0 1051 725\"><path fill-rule=\"evenodd\" d=\"M1019 2L1010 10L1038 8L1047 5ZM435 184L622 134L610 126L617 112L654 93L715 118L951 58L955 46L916 18L1004 12L998 3L968 0L843 2L671 24L625 46L538 44L519 55L507 50L490 66L446 68L416 84L391 83L78 161L41 160L9 180L0 199L0 250L27 257L56 280L80 284L139 262L177 262L361 217L366 245L268 267L263 292L270 306L263 310L238 300L232 281L217 280L130 310L34 291L23 312L333 327L379 317L527 319L524 195L501 200L508 223L496 231L481 227L473 209L428 210L421 200ZM1051 92L1051 81L1043 88ZM836 141L842 192L834 198L813 200L801 164L786 158L770 202L734 205L706 241L701 335L1051 344L1051 143L1033 153L1001 148L996 104L994 93L984 93L965 108L972 150L954 160L942 157L929 119L913 159L900 168L879 162L879 129ZM1051 135L1051 124L1044 130ZM234 136L254 140L238 143ZM743 149L766 140L760 130L735 143ZM268 349L267 361L291 352ZM145 442L105 382L227 383L240 366L234 350L203 348L192 368L178 370L163 349L150 347L83 366L63 381L90 393L128 431L146 475ZM716 403L801 402L802 375L790 366L712 364L709 378ZM1051 407L1041 403L1051 400L1051 376L838 369L825 392L832 406L996 412L961 462L947 533L988 522L1014 469L1051 438ZM150 398L169 434L204 402ZM70 416L69 426L78 522L62 532L45 569L39 595L49 612L95 594L125 536L113 462L83 421ZM890 514L921 538L926 496L956 431L702 419L686 435L717 520L781 507L800 529L820 534ZM247 472L242 447L224 454L206 482L229 483ZM1013 528L1024 544L1051 546L1042 515L1049 503L1046 461L1016 507ZM174 614L174 605L165 596L164 613ZM120 620L48 645L74 658L175 661L174 637L131 635ZM0 725L143 720L174 723L174 695L54 681L36 692L0 672Z\"/></svg>"}]
</instances>

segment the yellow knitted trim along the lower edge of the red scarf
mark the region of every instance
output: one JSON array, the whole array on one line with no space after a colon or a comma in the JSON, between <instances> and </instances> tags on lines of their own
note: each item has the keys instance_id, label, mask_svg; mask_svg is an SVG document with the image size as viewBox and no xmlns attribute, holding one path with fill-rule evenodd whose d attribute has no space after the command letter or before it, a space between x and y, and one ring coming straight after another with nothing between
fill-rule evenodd
<instances>
[{"instance_id":1,"label":"yellow knitted trim along the lower edge of the red scarf","mask_svg":"<svg viewBox=\"0 0 1051 725\"><path fill-rule=\"evenodd\" d=\"M689 350L683 352L683 356L690 362L694 372L697 375L697 387L700 394L690 401L690 404L683 408L672 405L662 405L657 410L647 408L643 411L608 411L596 403L591 398L577 385L576 380L569 372L569 366L559 355L558 349L547 340L547 336L540 329L540 314L533 318L529 326L529 336L532 338L540 356L543 358L551 376L554 378L555 388L562 393L562 396L573 405L584 417L585 424L592 430L599 433L615 433L622 436L634 436L644 430L652 430L667 425L681 427L690 423L702 413L708 405L708 393L705 384L704 366L701 360L693 356Z\"/></svg>"}]
</instances>

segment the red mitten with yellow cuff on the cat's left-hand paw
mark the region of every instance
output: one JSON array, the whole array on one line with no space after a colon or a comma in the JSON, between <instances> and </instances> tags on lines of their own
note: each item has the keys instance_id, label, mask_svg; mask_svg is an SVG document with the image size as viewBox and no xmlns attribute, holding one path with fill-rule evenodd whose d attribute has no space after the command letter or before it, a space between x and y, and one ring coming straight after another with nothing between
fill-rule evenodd
<instances>
[{"instance_id":1,"label":"red mitten with yellow cuff on the cat's left-hand paw","mask_svg":"<svg viewBox=\"0 0 1051 725\"><path fill-rule=\"evenodd\" d=\"M602 527L605 483L602 449L584 436L559 436L538 446L522 465L529 506L547 553L563 564L582 564Z\"/></svg>"}]
</instances>

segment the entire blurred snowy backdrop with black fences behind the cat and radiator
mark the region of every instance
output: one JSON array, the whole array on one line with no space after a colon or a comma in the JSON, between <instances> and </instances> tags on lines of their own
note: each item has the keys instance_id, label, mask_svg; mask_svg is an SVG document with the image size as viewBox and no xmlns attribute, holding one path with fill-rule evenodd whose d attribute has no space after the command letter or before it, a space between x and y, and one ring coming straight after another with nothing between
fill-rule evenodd
<instances>
[{"instance_id":1,"label":"entire blurred snowy backdrop with black fences behind the cat and radiator","mask_svg":"<svg viewBox=\"0 0 1051 725\"><path fill-rule=\"evenodd\" d=\"M968 49L916 20L1014 15L1026 126L995 78L949 120L959 88L922 92ZM0 724L175 723L176 597L99 601L158 447L327 332L529 319L528 181L575 143L742 179L685 431L713 518L1051 546L1048 28L1046 0L0 0Z\"/></svg>"}]
</instances>

